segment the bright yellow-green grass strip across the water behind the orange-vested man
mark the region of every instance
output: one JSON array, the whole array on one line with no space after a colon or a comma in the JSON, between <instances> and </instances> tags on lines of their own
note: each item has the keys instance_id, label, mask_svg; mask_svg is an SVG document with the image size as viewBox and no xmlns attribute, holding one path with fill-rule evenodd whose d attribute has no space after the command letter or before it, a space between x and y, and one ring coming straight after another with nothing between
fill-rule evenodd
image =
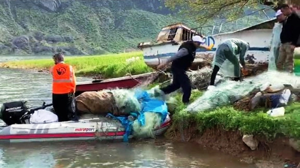
<instances>
[{"instance_id":1,"label":"bright yellow-green grass strip across the water behind the orange-vested man","mask_svg":"<svg viewBox=\"0 0 300 168\"><path fill-rule=\"evenodd\" d=\"M128 63L128 58L137 57L138 59ZM77 75L102 75L104 78L113 78L125 76L128 73L132 75L151 72L143 60L142 52L127 52L120 54L106 54L94 56L66 56L65 61L75 67ZM35 59L8 61L0 63L1 67L48 70L53 66L53 60Z\"/></svg>"}]
</instances>

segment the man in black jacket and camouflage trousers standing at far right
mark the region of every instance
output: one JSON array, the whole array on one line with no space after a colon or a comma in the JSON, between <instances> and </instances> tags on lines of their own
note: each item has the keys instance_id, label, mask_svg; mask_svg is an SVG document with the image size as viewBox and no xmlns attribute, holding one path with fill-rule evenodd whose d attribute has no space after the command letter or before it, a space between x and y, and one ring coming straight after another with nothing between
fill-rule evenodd
<instances>
[{"instance_id":1,"label":"man in black jacket and camouflage trousers standing at far right","mask_svg":"<svg viewBox=\"0 0 300 168\"><path fill-rule=\"evenodd\" d=\"M288 4L283 4L280 10L286 15L286 20L283 22L280 33L281 45L276 67L277 70L282 71L285 68L289 73L293 73L294 50L299 46L297 43L300 35L300 18L295 12L292 12Z\"/></svg>"}]
</instances>

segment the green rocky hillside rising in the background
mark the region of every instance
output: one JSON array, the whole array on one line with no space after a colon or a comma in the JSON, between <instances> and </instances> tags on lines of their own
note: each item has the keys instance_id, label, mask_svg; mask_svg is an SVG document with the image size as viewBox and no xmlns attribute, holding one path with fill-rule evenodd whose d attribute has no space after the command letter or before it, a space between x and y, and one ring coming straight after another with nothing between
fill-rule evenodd
<instances>
[{"instance_id":1,"label":"green rocky hillside rising in the background","mask_svg":"<svg viewBox=\"0 0 300 168\"><path fill-rule=\"evenodd\" d=\"M171 16L163 0L3 0L0 54L132 51L139 42L155 40L163 26L182 20L199 26ZM265 18L253 16L250 22L244 19L236 25L245 27L254 20ZM228 30L223 26L223 31Z\"/></svg>"}]
</instances>

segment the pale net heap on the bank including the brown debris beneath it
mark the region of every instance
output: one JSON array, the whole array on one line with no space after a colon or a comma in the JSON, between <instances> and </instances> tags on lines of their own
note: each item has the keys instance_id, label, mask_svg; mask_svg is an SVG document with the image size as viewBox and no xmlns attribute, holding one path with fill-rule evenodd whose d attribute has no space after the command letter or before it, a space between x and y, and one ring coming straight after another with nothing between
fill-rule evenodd
<instances>
[{"instance_id":1,"label":"pale net heap on the bank including the brown debris beneath it","mask_svg":"<svg viewBox=\"0 0 300 168\"><path fill-rule=\"evenodd\" d=\"M281 99L289 99L283 101L286 103L299 94L299 79L300 77L287 73L268 71L241 82L225 80L215 88L205 91L186 110L192 113L202 112L230 104L236 109L246 111L255 107L275 108L282 104Z\"/></svg>"}]
</instances>

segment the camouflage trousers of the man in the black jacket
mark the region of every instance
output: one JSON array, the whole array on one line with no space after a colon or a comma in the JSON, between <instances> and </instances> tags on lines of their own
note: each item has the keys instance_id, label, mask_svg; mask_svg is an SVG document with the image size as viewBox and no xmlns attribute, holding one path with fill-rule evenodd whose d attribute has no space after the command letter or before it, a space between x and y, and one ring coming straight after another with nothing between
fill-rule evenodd
<instances>
[{"instance_id":1,"label":"camouflage trousers of the man in the black jacket","mask_svg":"<svg viewBox=\"0 0 300 168\"><path fill-rule=\"evenodd\" d=\"M291 48L291 43L280 45L276 67L279 71L287 70L289 73L293 73L294 49Z\"/></svg>"}]
</instances>

